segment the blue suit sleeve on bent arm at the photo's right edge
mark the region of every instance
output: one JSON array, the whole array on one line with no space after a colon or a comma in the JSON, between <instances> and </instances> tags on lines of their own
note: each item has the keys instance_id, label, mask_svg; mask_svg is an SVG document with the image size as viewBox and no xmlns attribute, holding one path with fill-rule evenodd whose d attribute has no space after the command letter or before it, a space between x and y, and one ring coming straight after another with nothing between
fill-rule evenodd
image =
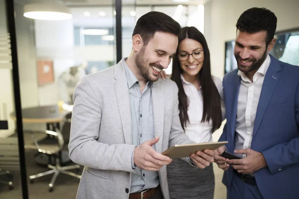
<instances>
[{"instance_id":1,"label":"blue suit sleeve on bent arm at the photo's right edge","mask_svg":"<svg viewBox=\"0 0 299 199\"><path fill-rule=\"evenodd\" d=\"M262 152L272 174L284 169L286 166L299 163L299 84L297 85L295 97L295 114L298 137Z\"/></svg>"}]
</instances>

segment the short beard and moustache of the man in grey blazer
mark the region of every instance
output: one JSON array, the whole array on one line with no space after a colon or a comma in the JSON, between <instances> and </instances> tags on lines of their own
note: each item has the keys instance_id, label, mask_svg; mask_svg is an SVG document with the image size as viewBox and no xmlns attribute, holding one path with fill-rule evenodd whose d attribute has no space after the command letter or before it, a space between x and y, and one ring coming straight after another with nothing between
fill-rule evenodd
<instances>
[{"instance_id":1,"label":"short beard and moustache of the man in grey blazer","mask_svg":"<svg viewBox=\"0 0 299 199\"><path fill-rule=\"evenodd\" d=\"M149 75L149 67L147 67L147 62L144 59L144 54L145 54L145 47L143 47L141 49L141 51L136 55L135 57L135 64L139 70L139 72L141 73L141 75L147 80L147 81L151 81L151 82L155 82L158 80L159 76L155 76L155 78L150 77ZM158 69L163 69L163 67L159 64L156 63L151 63L149 64L150 69L151 66L154 66Z\"/></svg>"}]
</instances>

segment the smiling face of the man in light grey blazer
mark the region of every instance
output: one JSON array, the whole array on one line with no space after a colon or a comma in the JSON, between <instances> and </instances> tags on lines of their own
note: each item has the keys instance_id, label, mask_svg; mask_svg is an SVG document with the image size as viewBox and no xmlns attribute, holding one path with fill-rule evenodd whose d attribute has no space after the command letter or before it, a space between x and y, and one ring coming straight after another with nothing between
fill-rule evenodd
<instances>
[{"instance_id":1,"label":"smiling face of the man in light grey blazer","mask_svg":"<svg viewBox=\"0 0 299 199\"><path fill-rule=\"evenodd\" d=\"M146 81L155 82L159 74L170 64L177 48L176 35L166 32L155 32L148 44L142 45L135 56L135 65Z\"/></svg>"}]
</instances>

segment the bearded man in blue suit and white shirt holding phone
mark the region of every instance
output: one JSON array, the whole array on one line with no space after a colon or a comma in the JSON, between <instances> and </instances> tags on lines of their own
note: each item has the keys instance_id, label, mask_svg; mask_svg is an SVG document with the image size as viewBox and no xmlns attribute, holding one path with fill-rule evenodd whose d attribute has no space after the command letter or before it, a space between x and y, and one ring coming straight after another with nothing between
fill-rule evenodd
<instances>
[{"instance_id":1,"label":"bearded man in blue suit and white shirt holding phone","mask_svg":"<svg viewBox=\"0 0 299 199\"><path fill-rule=\"evenodd\" d=\"M277 18L266 8L239 17L238 69L223 79L227 123L214 157L228 199L299 199L299 67L268 53ZM242 159L228 160L227 150Z\"/></svg>"}]
</instances>

